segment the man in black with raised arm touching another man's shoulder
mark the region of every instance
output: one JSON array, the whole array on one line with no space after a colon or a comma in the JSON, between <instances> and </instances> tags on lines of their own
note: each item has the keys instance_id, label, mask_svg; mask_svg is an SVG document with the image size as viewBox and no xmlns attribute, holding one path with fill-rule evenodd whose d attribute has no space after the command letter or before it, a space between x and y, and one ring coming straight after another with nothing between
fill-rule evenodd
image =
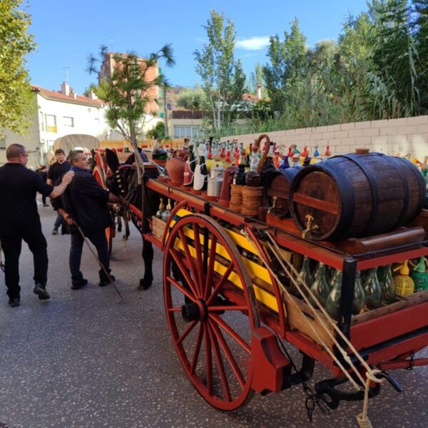
<instances>
[{"instance_id":1,"label":"man in black with raised arm touching another man's shoulder","mask_svg":"<svg viewBox=\"0 0 428 428\"><path fill-rule=\"evenodd\" d=\"M34 258L34 294L40 300L49 299L46 291L48 252L41 232L36 193L57 198L73 178L72 171L53 187L41 176L26 168L29 155L21 144L11 144L6 150L7 163L0 167L0 242L4 253L4 278L11 307L19 306L19 255L24 240Z\"/></svg>"}]
</instances>

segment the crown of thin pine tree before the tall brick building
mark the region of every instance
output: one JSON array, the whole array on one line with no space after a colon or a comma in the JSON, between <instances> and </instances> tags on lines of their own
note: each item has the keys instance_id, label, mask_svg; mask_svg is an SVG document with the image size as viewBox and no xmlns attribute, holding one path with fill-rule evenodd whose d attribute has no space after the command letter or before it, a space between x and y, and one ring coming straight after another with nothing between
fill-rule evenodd
<instances>
[{"instance_id":1,"label":"crown of thin pine tree before the tall brick building","mask_svg":"<svg viewBox=\"0 0 428 428\"><path fill-rule=\"evenodd\" d=\"M88 72L96 73L97 66L103 62L107 47L101 46L99 57L88 57ZM173 49L169 44L158 52L150 54L141 61L135 52L113 55L113 71L105 76L96 88L98 98L106 102L106 119L113 129L118 129L126 140L137 150L137 136L141 133L146 121L146 106L157 101L153 88L168 87L163 74L149 78L149 71L158 61L164 60L166 66L173 66ZM165 90L165 89L164 89ZM152 112L153 115L156 114Z\"/></svg>"}]
</instances>

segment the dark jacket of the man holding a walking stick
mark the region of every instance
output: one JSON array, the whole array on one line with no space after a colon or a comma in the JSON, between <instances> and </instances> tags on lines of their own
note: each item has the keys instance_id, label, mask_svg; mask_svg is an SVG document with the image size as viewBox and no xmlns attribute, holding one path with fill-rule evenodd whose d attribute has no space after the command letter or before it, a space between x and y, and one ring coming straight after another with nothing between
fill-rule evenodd
<instances>
[{"instance_id":1,"label":"dark jacket of the man holding a walking stick","mask_svg":"<svg viewBox=\"0 0 428 428\"><path fill-rule=\"evenodd\" d=\"M113 225L107 205L108 191L97 183L91 172L72 169L73 180L61 195L61 200L52 201L54 208L66 210L86 236Z\"/></svg>"}]
</instances>

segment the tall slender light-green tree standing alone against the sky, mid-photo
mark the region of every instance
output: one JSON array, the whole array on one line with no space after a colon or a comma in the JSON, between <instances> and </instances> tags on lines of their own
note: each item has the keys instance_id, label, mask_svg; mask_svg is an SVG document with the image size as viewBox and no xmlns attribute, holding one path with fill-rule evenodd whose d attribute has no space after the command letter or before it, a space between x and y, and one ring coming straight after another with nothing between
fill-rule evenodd
<instances>
[{"instance_id":1,"label":"tall slender light-green tree standing alone against the sky, mid-photo","mask_svg":"<svg viewBox=\"0 0 428 428\"><path fill-rule=\"evenodd\" d=\"M233 49L236 33L233 22L217 11L210 12L207 25L208 44L193 54L196 72L202 78L203 90L210 106L210 126L218 138L225 127L237 117L237 104L245 90L245 74L240 61L235 61Z\"/></svg>"}]
</instances>

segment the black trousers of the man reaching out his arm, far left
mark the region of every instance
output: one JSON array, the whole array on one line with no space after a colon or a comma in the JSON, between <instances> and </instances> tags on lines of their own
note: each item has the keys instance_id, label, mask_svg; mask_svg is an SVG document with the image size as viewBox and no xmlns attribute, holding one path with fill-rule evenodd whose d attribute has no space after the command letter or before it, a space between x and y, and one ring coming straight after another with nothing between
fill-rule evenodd
<instances>
[{"instance_id":1,"label":"black trousers of the man reaching out his arm, far left","mask_svg":"<svg viewBox=\"0 0 428 428\"><path fill-rule=\"evenodd\" d=\"M48 251L46 239L39 230L15 236L0 236L1 248L4 253L4 281L6 282L9 298L19 297L19 256L24 240L28 245L34 260L34 282L46 285L48 280Z\"/></svg>"}]
</instances>

